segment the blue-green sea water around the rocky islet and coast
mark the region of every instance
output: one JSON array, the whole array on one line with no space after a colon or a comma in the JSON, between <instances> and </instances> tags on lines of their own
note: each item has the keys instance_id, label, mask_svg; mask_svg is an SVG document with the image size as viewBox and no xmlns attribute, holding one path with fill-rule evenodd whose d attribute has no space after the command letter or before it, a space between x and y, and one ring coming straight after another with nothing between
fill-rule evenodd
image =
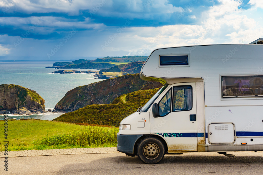
<instances>
[{"instance_id":1,"label":"blue-green sea water around the rocky islet and coast","mask_svg":"<svg viewBox=\"0 0 263 175\"><path fill-rule=\"evenodd\" d=\"M54 109L55 105L65 94L78 86L102 81L94 79L94 73L77 74L54 74L51 72L61 70L56 68L45 68L52 66L54 62L67 61L1 61L0 60L0 84L16 84L36 91L45 100L45 110ZM70 69L87 71L94 69ZM96 70L99 71L99 70ZM35 118L41 120L52 120L63 113L45 113L32 115L8 115L9 119ZM0 120L3 115L0 115Z\"/></svg>"}]
</instances>

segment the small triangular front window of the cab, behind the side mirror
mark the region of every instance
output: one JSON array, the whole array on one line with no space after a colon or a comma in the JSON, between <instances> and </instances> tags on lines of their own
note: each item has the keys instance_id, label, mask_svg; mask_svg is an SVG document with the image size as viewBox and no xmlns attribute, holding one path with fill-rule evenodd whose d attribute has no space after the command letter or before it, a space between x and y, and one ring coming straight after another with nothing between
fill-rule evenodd
<instances>
[{"instance_id":1,"label":"small triangular front window of the cab, behind the side mirror","mask_svg":"<svg viewBox=\"0 0 263 175\"><path fill-rule=\"evenodd\" d=\"M158 103L160 116L165 116L171 112L171 98L172 89L170 89Z\"/></svg>"}]
</instances>

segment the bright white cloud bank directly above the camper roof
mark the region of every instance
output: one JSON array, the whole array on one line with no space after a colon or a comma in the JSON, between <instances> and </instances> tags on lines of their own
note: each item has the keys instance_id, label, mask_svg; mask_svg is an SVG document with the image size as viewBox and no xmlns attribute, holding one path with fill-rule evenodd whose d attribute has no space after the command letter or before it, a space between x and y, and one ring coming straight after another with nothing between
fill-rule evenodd
<instances>
[{"instance_id":1,"label":"bright white cloud bank directly above the camper roof","mask_svg":"<svg viewBox=\"0 0 263 175\"><path fill-rule=\"evenodd\" d=\"M220 0L219 5L210 7L204 12L200 25L129 28L118 36L118 42L110 45L107 51L126 50L130 55L136 55L150 53L162 47L248 44L262 38L263 26L242 13L245 10L239 9L241 3L241 1Z\"/></svg>"}]
</instances>

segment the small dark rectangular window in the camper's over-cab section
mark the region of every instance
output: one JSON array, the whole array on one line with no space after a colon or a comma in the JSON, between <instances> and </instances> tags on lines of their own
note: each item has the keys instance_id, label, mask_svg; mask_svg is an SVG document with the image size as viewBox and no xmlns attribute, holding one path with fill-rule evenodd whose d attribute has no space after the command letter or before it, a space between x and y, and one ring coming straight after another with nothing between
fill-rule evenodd
<instances>
[{"instance_id":1,"label":"small dark rectangular window in the camper's over-cab section","mask_svg":"<svg viewBox=\"0 0 263 175\"><path fill-rule=\"evenodd\" d=\"M189 65L188 55L160 55L160 66Z\"/></svg>"}]
</instances>

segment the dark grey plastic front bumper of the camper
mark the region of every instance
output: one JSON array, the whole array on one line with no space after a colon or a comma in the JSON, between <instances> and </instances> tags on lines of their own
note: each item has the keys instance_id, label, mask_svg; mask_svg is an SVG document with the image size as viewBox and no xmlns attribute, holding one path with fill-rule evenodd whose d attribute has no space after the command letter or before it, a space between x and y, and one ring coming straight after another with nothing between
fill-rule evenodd
<instances>
[{"instance_id":1,"label":"dark grey plastic front bumper of the camper","mask_svg":"<svg viewBox=\"0 0 263 175\"><path fill-rule=\"evenodd\" d=\"M126 154L134 154L135 142L143 135L121 135L117 134L117 151L124 152Z\"/></svg>"}]
</instances>

